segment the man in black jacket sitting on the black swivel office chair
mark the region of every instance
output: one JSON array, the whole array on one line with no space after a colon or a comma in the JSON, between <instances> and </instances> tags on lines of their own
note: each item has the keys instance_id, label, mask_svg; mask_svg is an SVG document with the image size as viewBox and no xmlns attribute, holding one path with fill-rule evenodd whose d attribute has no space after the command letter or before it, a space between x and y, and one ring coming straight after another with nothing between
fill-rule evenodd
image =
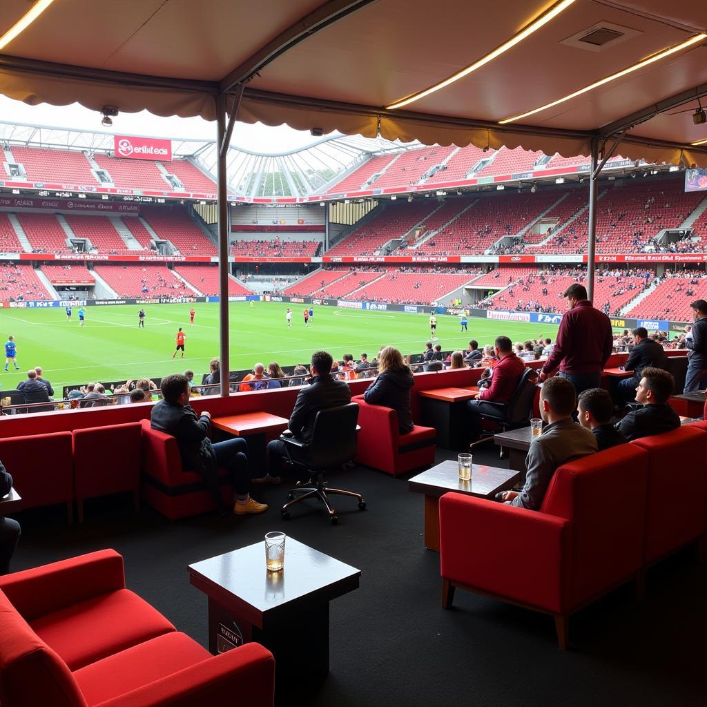
<instances>
[{"instance_id":1,"label":"man in black jacket sitting on the black swivel office chair","mask_svg":"<svg viewBox=\"0 0 707 707\"><path fill-rule=\"evenodd\" d=\"M332 378L333 363L334 359L326 351L316 351L312 354L311 385L298 393L288 423L288 429L302 442L309 442L312 439L317 412L327 407L337 407L351 402L349 386L343 380ZM262 477L261 482L277 482L282 468L282 460L287 457L285 443L282 440L272 440L267 445L267 451L269 473L267 477Z\"/></svg>"}]
</instances>

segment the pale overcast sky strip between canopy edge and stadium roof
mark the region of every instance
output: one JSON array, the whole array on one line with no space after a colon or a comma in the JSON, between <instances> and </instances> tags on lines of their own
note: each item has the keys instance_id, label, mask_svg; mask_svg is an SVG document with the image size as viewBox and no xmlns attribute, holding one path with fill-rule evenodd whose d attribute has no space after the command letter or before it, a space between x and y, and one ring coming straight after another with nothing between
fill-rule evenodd
<instances>
[{"instance_id":1,"label":"pale overcast sky strip between canopy edge and stadium roof","mask_svg":"<svg viewBox=\"0 0 707 707\"><path fill-rule=\"evenodd\" d=\"M162 118L146 110L140 113L121 113L113 118L113 127L100 124L100 113L88 110L78 103L66 106L27 105L0 95L0 119L12 123L49 125L86 131L116 132L118 134L148 135L163 138L216 139L216 122L201 118ZM305 147L320 138L308 131L293 130L287 125L268 127L238 123L233 130L230 144L253 152L278 153Z\"/></svg>"}]
</instances>

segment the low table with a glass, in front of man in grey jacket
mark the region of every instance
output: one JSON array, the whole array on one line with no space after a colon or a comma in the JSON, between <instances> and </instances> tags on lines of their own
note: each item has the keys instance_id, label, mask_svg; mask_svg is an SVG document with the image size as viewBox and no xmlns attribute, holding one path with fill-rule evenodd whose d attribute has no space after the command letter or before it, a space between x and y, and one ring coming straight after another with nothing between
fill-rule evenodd
<instances>
[{"instance_id":1,"label":"low table with a glass, in front of man in grey jacket","mask_svg":"<svg viewBox=\"0 0 707 707\"><path fill-rule=\"evenodd\" d=\"M472 480L460 481L459 464L448 460L409 479L408 490L413 493L423 493L425 496L425 547L437 552L440 550L439 499L441 496L450 491L457 491L466 496L493 498L499 491L512 489L518 481L518 476L515 469L474 464Z\"/></svg>"}]
</instances>

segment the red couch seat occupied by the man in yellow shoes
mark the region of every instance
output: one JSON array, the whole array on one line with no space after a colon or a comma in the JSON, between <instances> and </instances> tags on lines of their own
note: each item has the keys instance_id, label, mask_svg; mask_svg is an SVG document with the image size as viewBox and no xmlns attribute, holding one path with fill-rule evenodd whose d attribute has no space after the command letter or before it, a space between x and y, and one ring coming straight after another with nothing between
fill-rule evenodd
<instances>
[{"instance_id":1,"label":"red couch seat occupied by the man in yellow shoes","mask_svg":"<svg viewBox=\"0 0 707 707\"><path fill-rule=\"evenodd\" d=\"M219 470L223 502L233 503L233 487ZM208 513L216 501L199 474L182 469L177 440L142 421L142 493L145 502L170 520Z\"/></svg>"}]
</instances>

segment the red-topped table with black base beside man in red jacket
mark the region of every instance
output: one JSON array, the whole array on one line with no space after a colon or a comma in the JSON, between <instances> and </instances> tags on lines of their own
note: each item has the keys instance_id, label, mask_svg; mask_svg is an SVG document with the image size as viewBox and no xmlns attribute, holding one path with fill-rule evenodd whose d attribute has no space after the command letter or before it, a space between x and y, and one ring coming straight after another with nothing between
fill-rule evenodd
<instances>
[{"instance_id":1,"label":"red-topped table with black base beside man in red jacket","mask_svg":"<svg viewBox=\"0 0 707 707\"><path fill-rule=\"evenodd\" d=\"M461 449L467 444L469 423L464 403L479 395L474 388L433 388L421 390L421 421L437 430L436 445L445 449Z\"/></svg>"}]
</instances>

